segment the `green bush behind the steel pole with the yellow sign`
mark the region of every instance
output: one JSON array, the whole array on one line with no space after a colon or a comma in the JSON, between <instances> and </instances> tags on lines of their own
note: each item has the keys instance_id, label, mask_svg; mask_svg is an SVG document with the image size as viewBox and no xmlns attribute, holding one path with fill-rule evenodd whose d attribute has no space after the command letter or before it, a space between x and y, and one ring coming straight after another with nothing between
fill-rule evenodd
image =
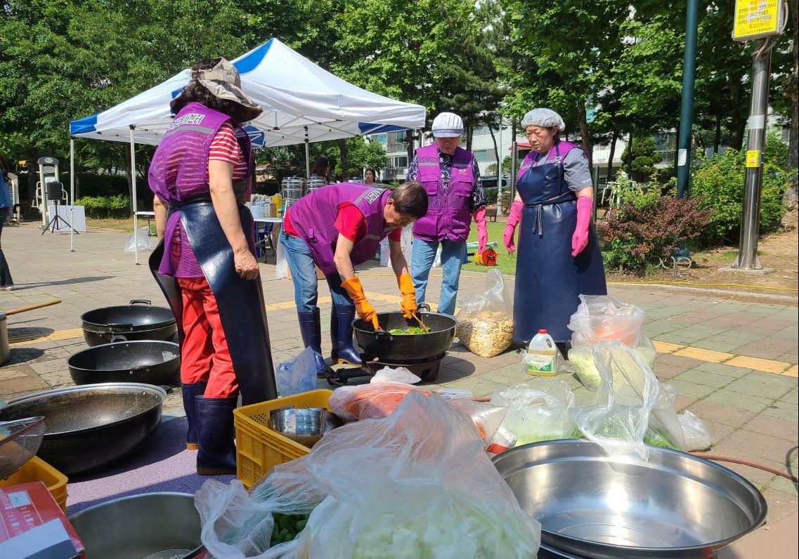
<instances>
[{"instance_id":1,"label":"green bush behind the steel pole with the yellow sign","mask_svg":"<svg viewBox=\"0 0 799 559\"><path fill-rule=\"evenodd\" d=\"M785 144L773 134L766 139L763 157L763 184L760 197L761 232L777 227L785 208L787 174L779 166L787 151ZM702 197L702 208L712 210L710 224L700 237L702 246L737 243L743 212L746 149L728 149L714 157L700 157L691 182L693 195Z\"/></svg>"}]
</instances>

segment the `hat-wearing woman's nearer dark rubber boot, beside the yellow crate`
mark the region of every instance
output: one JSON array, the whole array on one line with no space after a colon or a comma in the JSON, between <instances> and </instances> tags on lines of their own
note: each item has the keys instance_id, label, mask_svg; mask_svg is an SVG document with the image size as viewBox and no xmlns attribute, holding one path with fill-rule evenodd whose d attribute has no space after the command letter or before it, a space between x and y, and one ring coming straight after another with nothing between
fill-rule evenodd
<instances>
[{"instance_id":1,"label":"hat-wearing woman's nearer dark rubber boot, beside the yellow crate","mask_svg":"<svg viewBox=\"0 0 799 559\"><path fill-rule=\"evenodd\" d=\"M238 398L195 398L197 474L236 474L236 445L233 444L233 410Z\"/></svg>"}]
</instances>

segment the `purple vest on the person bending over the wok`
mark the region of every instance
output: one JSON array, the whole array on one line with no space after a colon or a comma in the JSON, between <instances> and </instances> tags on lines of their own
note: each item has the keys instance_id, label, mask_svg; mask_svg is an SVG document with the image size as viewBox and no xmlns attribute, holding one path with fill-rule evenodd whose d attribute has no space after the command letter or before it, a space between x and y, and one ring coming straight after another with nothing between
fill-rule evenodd
<instances>
[{"instance_id":1,"label":"purple vest on the person bending over the wok","mask_svg":"<svg viewBox=\"0 0 799 559\"><path fill-rule=\"evenodd\" d=\"M336 253L336 217L339 206L349 202L360 209L366 220L366 235L352 247L352 265L363 264L375 257L380 241L391 229L385 227L383 208L391 191L360 183L329 184L318 188L292 204L288 219L292 227L311 249L313 260L325 276L336 273L333 255Z\"/></svg>"}]
</instances>

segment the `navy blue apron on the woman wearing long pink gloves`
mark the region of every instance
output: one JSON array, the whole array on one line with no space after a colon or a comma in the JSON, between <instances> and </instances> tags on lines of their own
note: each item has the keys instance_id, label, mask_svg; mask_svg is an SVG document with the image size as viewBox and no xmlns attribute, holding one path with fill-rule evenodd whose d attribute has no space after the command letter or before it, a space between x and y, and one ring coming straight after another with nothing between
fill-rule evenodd
<instances>
[{"instance_id":1,"label":"navy blue apron on the woman wearing long pink gloves","mask_svg":"<svg viewBox=\"0 0 799 559\"><path fill-rule=\"evenodd\" d=\"M566 327L580 303L578 295L606 295L605 268L594 232L588 245L571 256L577 226L577 196L564 180L557 159L531 167L516 183L524 209L519 224L516 286L513 298L513 341L527 344L539 329L555 342L567 342Z\"/></svg>"}]
</instances>

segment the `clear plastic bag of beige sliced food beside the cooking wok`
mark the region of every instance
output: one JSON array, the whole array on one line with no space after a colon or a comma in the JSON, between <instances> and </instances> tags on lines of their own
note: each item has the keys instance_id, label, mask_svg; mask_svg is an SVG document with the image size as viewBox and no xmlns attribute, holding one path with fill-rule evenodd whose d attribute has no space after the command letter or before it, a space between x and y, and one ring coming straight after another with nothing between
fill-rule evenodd
<instances>
[{"instance_id":1,"label":"clear plastic bag of beige sliced food beside the cooking wok","mask_svg":"<svg viewBox=\"0 0 799 559\"><path fill-rule=\"evenodd\" d=\"M513 303L499 270L489 270L483 293L467 295L455 315L458 336L469 351L494 357L513 342Z\"/></svg>"}]
</instances>

